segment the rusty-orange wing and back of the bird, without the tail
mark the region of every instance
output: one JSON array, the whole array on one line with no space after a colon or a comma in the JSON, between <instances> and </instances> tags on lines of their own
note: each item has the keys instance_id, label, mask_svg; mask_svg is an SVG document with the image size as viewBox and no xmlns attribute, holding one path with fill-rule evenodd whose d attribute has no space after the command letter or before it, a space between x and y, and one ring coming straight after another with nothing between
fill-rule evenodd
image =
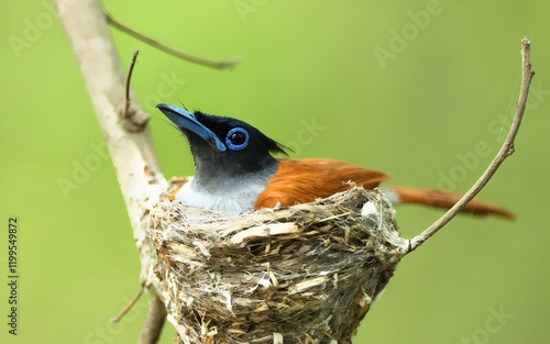
<instances>
[{"instance_id":1,"label":"rusty-orange wing and back of the bird, without the tail","mask_svg":"<svg viewBox=\"0 0 550 344\"><path fill-rule=\"evenodd\" d=\"M334 159L282 158L278 162L278 169L260 193L255 209L312 202L349 189L348 181L373 189L389 178L384 173Z\"/></svg>"}]
</instances>

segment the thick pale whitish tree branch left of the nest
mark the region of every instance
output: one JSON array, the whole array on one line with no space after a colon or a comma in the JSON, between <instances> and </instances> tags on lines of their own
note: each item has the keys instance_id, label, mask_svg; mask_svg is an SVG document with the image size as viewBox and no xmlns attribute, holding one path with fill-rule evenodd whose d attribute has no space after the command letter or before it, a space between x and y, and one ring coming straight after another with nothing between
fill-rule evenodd
<instances>
[{"instance_id":1,"label":"thick pale whitish tree branch left of the nest","mask_svg":"<svg viewBox=\"0 0 550 344\"><path fill-rule=\"evenodd\" d=\"M72 43L75 56L94 103L94 109L107 138L112 163L117 170L124 198L133 236L142 264L141 282L145 285L152 275L155 249L146 236L146 220L152 204L156 203L166 188L166 180L156 160L146 116L135 123L131 115L123 119L121 113L125 101L125 77L120 59L105 21L98 0L57 0L57 10ZM143 113L133 104L132 113ZM131 130L128 121L139 124ZM131 133L132 132L132 133ZM145 286L150 290L151 286ZM153 296L150 314L158 315L158 301ZM141 343L155 343L165 317L147 317Z\"/></svg>"}]
</instances>

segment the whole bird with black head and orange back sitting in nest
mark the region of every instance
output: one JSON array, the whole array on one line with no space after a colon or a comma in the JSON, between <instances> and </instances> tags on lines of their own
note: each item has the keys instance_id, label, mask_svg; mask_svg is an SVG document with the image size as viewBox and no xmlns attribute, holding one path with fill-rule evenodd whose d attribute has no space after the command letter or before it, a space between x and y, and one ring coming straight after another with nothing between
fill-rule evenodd
<instances>
[{"instance_id":1,"label":"whole bird with black head and orange back sitting in nest","mask_svg":"<svg viewBox=\"0 0 550 344\"><path fill-rule=\"evenodd\" d=\"M193 113L176 106L156 107L185 135L194 157L195 176L169 199L211 211L243 213L312 202L348 190L352 185L380 188L393 203L418 203L449 209L460 195L408 186L381 185L385 173L331 158L289 158L288 148L241 120ZM277 158L282 154L286 157ZM510 211L472 200L462 212L513 220Z\"/></svg>"}]
</instances>

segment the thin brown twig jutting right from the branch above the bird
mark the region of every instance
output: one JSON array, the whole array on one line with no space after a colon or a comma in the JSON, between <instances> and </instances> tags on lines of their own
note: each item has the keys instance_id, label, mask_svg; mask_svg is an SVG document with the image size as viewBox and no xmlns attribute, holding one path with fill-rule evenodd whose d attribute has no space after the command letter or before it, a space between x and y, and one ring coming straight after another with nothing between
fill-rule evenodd
<instances>
[{"instance_id":1,"label":"thin brown twig jutting right from the branch above the bird","mask_svg":"<svg viewBox=\"0 0 550 344\"><path fill-rule=\"evenodd\" d=\"M195 56L188 53L184 53L182 51L175 49L173 47L169 47L167 45L164 45L151 37L147 37L139 32L135 32L134 30L128 27L127 25L122 24L121 22L117 21L114 18L112 18L109 13L105 12L105 16L107 19L107 23L114 29L118 29L131 36L133 36L136 40L142 41L145 44L151 45L154 48L157 48L162 52L165 52L166 54L169 54L172 56L175 56L177 58L182 58L185 60L188 60L194 64L202 65L206 67L210 68L216 68L216 69L226 69L226 68L233 68L237 64L237 59L224 59L224 60L212 60L199 56Z\"/></svg>"}]
</instances>

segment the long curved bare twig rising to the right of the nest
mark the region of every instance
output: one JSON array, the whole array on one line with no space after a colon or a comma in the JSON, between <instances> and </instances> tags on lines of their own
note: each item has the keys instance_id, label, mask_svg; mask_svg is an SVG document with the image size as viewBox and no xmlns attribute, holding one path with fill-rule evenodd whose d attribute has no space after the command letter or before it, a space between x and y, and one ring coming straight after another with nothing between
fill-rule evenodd
<instances>
[{"instance_id":1,"label":"long curved bare twig rising to the right of the nest","mask_svg":"<svg viewBox=\"0 0 550 344\"><path fill-rule=\"evenodd\" d=\"M413 237L410 240L409 253L418 248L424 242L436 234L441 228L443 228L449 221L451 221L454 215L468 203L470 202L491 180L493 175L496 173L501 164L514 153L514 141L519 131L519 125L524 119L525 108L527 104L527 96L529 93L529 86L531 84L532 76L535 75L535 69L532 69L529 62L530 53L530 41L528 37L521 40L521 88L519 90L519 100L516 106L516 113L514 115L514 121L512 123L510 130L506 140L498 151L497 155L491 162L487 169L477 179L477 181L468 190L468 192L454 204L448 212L446 212L438 221L426 229L421 234Z\"/></svg>"}]
</instances>

